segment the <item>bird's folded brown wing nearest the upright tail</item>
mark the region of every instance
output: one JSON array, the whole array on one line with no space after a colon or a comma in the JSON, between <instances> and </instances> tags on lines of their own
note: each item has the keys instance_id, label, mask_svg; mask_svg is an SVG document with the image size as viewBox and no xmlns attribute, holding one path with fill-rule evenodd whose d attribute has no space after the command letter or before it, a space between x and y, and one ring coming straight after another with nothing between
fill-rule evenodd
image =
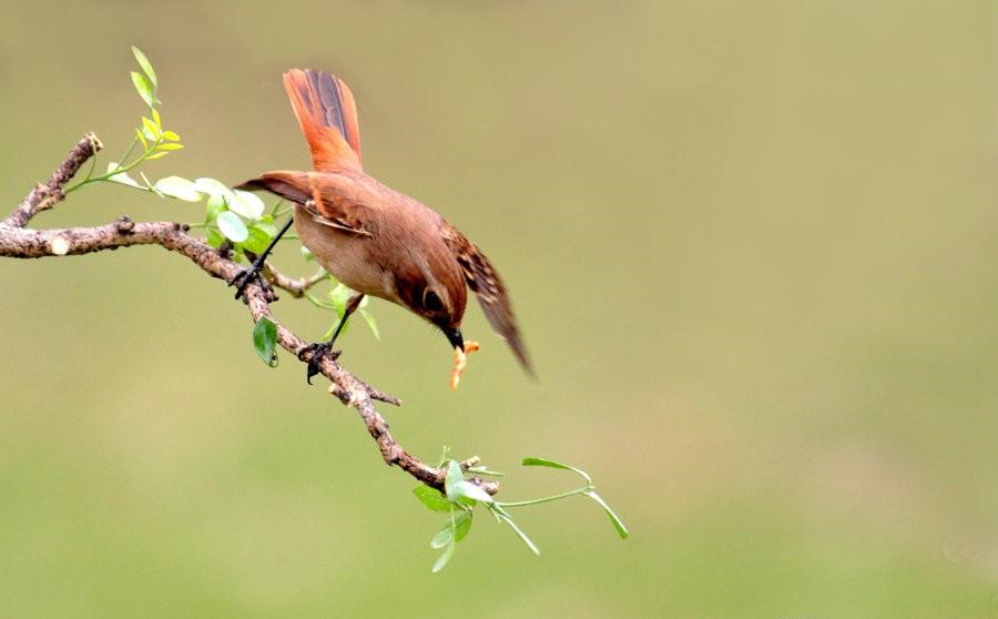
<instances>
[{"instance_id":1,"label":"bird's folded brown wing nearest the upright tail","mask_svg":"<svg viewBox=\"0 0 998 619\"><path fill-rule=\"evenodd\" d=\"M301 204L323 225L360 236L371 236L369 210L347 196L324 190L323 176L317 172L278 170L264 172L235 189L268 191Z\"/></svg>"}]
</instances>

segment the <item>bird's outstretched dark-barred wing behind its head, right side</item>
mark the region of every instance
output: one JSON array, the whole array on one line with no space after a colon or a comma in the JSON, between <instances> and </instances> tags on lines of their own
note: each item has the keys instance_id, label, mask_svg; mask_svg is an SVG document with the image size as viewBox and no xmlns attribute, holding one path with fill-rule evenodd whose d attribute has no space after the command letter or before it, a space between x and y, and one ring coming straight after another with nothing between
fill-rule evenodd
<instances>
[{"instance_id":1,"label":"bird's outstretched dark-barred wing behind its head, right side","mask_svg":"<svg viewBox=\"0 0 998 619\"><path fill-rule=\"evenodd\" d=\"M457 258L458 264L465 272L465 282L468 287L478 297L478 304L485 313L496 333L501 335L509 343L513 354L519 359L523 369L528 374L533 375L533 367L530 364L530 357L527 354L527 346L520 337L520 331L517 328L517 317L513 315L512 304L509 301L509 294L506 286L499 277L499 273L489 262L481 250L461 234L459 230L450 224L445 223L441 230L444 241Z\"/></svg>"}]
</instances>

